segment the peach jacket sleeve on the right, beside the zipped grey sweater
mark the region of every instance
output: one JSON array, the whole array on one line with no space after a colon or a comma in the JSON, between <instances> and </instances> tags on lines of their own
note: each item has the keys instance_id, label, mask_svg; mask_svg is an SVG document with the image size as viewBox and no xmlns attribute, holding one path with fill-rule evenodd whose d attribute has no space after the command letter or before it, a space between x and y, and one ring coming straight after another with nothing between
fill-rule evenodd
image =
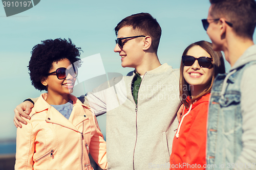
<instances>
[{"instance_id":1,"label":"peach jacket sleeve on the right, beside the zipped grey sweater","mask_svg":"<svg viewBox=\"0 0 256 170\"><path fill-rule=\"evenodd\" d=\"M92 136L90 142L90 154L92 155L94 161L102 169L108 168L108 162L106 160L106 142L103 138L102 133L99 130L99 125L95 116L94 123L96 128L96 133Z\"/></svg>"}]
</instances>

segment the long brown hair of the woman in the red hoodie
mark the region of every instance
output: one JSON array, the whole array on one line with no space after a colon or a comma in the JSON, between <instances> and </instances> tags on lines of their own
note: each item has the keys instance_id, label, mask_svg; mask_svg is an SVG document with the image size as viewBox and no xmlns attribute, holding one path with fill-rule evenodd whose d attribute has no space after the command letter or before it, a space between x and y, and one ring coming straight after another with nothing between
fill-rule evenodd
<instances>
[{"instance_id":1,"label":"long brown hair of the woman in the red hoodie","mask_svg":"<svg viewBox=\"0 0 256 170\"><path fill-rule=\"evenodd\" d=\"M181 64L180 64L180 100L186 107L189 107L190 104L193 104L196 100L201 98L203 95L210 93L212 84L214 83L214 79L216 78L216 76L219 73L220 74L225 73L224 58L223 58L221 52L215 52L214 50L212 50L212 44L210 42L198 41L193 44L190 44L190 45L188 45L188 47L186 47L182 56L187 55L188 50L191 47L197 46L197 45L202 47L211 56L211 58L213 60L212 63L213 63L213 67L214 67L214 75L212 76L211 82L209 83L207 88L202 93L195 96L195 98L191 99L189 102L187 98L183 97L184 95L191 96L191 92L189 90L189 84L186 82L186 80L184 79L184 76L183 76L184 65L181 61ZM184 89L184 87L187 87L187 88Z\"/></svg>"}]
</instances>

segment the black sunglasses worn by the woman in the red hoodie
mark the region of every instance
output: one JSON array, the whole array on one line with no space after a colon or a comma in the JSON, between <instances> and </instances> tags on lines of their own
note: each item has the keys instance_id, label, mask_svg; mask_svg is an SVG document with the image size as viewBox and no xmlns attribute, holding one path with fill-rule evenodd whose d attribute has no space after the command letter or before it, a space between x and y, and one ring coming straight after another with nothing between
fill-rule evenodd
<instances>
[{"instance_id":1,"label":"black sunglasses worn by the woman in the red hoodie","mask_svg":"<svg viewBox=\"0 0 256 170\"><path fill-rule=\"evenodd\" d=\"M209 68L210 65L212 64L212 58L210 57L199 57L199 58L195 58L193 56L182 56L182 63L184 66L191 66L195 63L195 61L198 61L198 64L200 65L200 67L203 68Z\"/></svg>"}]
</instances>

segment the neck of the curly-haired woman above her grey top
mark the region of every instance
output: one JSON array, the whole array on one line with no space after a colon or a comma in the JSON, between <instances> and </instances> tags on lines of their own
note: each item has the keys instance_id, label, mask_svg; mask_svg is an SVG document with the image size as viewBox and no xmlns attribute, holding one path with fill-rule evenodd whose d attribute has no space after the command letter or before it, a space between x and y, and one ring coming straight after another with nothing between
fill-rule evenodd
<instances>
[{"instance_id":1,"label":"neck of the curly-haired woman above her grey top","mask_svg":"<svg viewBox=\"0 0 256 170\"><path fill-rule=\"evenodd\" d=\"M49 105L63 105L69 102L68 94L61 95L48 91L46 102Z\"/></svg>"}]
</instances>

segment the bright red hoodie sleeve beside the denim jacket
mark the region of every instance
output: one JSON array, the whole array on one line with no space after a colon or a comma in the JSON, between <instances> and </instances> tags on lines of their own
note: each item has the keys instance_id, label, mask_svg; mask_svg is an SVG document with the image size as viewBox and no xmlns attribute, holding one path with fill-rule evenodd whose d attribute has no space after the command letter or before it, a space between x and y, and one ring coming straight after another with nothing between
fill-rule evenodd
<instances>
[{"instance_id":1,"label":"bright red hoodie sleeve beside the denim jacket","mask_svg":"<svg viewBox=\"0 0 256 170\"><path fill-rule=\"evenodd\" d=\"M193 119L186 138L185 169L205 169L206 124L209 102L203 102L193 109ZM193 121L193 120L192 120Z\"/></svg>"}]
</instances>

